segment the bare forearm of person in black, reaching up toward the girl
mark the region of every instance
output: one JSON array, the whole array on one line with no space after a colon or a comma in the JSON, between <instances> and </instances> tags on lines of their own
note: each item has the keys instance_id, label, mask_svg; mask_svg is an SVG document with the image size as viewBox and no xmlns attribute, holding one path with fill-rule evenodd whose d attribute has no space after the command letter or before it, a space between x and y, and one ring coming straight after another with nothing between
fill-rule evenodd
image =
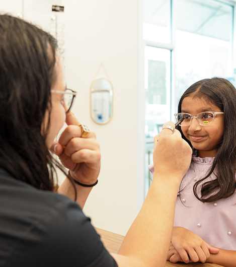
<instances>
[{"instance_id":1,"label":"bare forearm of person in black, reaching up toward the girl","mask_svg":"<svg viewBox=\"0 0 236 267\"><path fill-rule=\"evenodd\" d=\"M118 264L123 260L120 255L123 255L130 258L132 263L129 266L165 265L180 180L169 178L168 175L153 177L144 204L124 238L119 255L114 255Z\"/></svg>"}]
</instances>

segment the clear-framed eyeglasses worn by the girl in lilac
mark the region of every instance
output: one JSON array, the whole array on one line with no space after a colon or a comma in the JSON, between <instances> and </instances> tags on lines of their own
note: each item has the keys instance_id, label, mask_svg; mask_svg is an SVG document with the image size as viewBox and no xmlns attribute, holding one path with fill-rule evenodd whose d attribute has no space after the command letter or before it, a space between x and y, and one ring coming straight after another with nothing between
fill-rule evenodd
<instances>
[{"instance_id":1,"label":"clear-framed eyeglasses worn by the girl in lilac","mask_svg":"<svg viewBox=\"0 0 236 267\"><path fill-rule=\"evenodd\" d=\"M190 125L193 118L196 118L200 125L209 126L213 123L215 119L215 115L217 114L224 114L224 112L208 112L207 111L207 112L201 112L197 114L196 116L193 116L189 113L176 113L175 117L177 121L184 118L184 120L180 123L180 126Z\"/></svg>"}]
</instances>

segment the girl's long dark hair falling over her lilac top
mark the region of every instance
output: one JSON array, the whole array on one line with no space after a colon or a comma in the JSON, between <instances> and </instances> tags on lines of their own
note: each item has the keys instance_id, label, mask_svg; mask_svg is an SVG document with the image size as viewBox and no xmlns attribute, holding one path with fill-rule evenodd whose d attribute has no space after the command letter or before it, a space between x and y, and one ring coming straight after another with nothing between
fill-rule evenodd
<instances>
[{"instance_id":1,"label":"girl's long dark hair falling over her lilac top","mask_svg":"<svg viewBox=\"0 0 236 267\"><path fill-rule=\"evenodd\" d=\"M236 90L229 81L223 78L201 80L184 92L178 105L179 113L181 112L182 101L187 96L210 101L224 112L224 133L217 144L212 167L204 178L195 183L194 194L202 202L213 202L229 197L236 189ZM183 135L181 126L178 129L182 138L192 147ZM212 173L215 174L216 179L203 182ZM198 187L201 192L200 196L197 194Z\"/></svg>"}]
</instances>

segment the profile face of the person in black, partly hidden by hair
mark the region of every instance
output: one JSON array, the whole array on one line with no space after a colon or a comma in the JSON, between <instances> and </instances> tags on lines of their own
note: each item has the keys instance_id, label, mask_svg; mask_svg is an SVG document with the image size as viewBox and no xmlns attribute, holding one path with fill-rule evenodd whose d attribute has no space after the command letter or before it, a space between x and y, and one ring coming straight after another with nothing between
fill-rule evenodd
<instances>
[{"instance_id":1,"label":"profile face of the person in black, partly hidden by hair","mask_svg":"<svg viewBox=\"0 0 236 267\"><path fill-rule=\"evenodd\" d=\"M66 88L63 66L58 53L56 53L56 82L51 90L57 90L63 92ZM65 122L65 108L64 108L64 94L51 93L51 113L50 113L50 126L46 137L47 147L50 148L53 141ZM45 113L45 123L48 122L48 111Z\"/></svg>"}]
</instances>

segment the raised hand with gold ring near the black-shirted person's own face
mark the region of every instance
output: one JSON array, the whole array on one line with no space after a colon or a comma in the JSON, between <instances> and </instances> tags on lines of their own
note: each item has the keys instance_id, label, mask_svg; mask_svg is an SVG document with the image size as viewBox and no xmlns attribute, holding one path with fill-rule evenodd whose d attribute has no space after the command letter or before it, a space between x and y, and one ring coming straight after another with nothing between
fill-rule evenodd
<instances>
[{"instance_id":1,"label":"raised hand with gold ring near the black-shirted person's own face","mask_svg":"<svg viewBox=\"0 0 236 267\"><path fill-rule=\"evenodd\" d=\"M70 175L84 184L97 181L100 172L100 146L95 132L90 131L87 138L81 138L80 121L70 111L66 114L68 125L59 140L54 142L51 151L55 153L61 163L70 170Z\"/></svg>"}]
</instances>

